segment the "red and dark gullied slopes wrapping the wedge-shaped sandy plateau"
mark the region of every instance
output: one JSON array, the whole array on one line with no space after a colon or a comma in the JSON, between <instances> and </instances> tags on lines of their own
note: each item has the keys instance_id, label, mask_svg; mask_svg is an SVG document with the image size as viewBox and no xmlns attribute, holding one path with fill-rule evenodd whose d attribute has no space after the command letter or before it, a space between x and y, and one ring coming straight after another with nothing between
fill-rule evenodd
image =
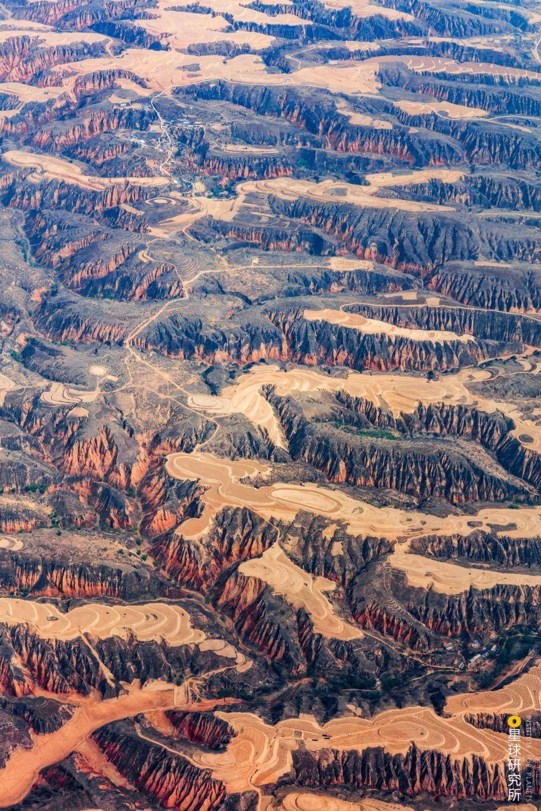
<instances>
[{"instance_id":1,"label":"red and dark gullied slopes wrapping the wedge-shaped sandy plateau","mask_svg":"<svg viewBox=\"0 0 541 811\"><path fill-rule=\"evenodd\" d=\"M288 553L294 560L300 563L301 554L311 545L311 571L334 576L337 581L346 577L345 585L354 581L359 568L390 550L383 540L359 543L359 539L339 531L327 536L324 526L316 530L308 522L277 528L246 508L229 508L217 513L208 535L184 539L181 526L177 533L157 539L152 556L175 581L206 592L216 610L230 617L245 646L292 676L317 672L336 680L369 680L380 668L393 667L393 657L380 658L370 643L367 649L359 650L354 643L316 633L307 611L294 610L259 577L239 571L239 562L253 560L273 547L282 531L290 539ZM331 549L337 543L343 543L346 555L350 555L346 576L337 573L336 560L333 566ZM341 590L337 596L343 599ZM344 672L350 675L344 676Z\"/></svg>"}]
</instances>

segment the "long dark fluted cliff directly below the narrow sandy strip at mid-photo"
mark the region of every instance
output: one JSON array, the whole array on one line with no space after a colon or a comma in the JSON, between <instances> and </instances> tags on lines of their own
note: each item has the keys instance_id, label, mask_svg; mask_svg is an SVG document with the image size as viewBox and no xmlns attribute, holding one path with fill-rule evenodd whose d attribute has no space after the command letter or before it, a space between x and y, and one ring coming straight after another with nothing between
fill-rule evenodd
<instances>
[{"instance_id":1,"label":"long dark fluted cliff directly below the narrow sandy strip at mid-photo","mask_svg":"<svg viewBox=\"0 0 541 811\"><path fill-rule=\"evenodd\" d=\"M44 307L40 324L49 335L71 337L66 315ZM65 324L65 326L64 326ZM78 340L100 338L119 340L120 334L111 324L101 326L79 320L75 325ZM536 339L535 339L536 340ZM413 340L408 337L388 337L363 334L359 330L329 324L324 320L304 320L295 310L268 310L264 320L260 314L254 322L243 320L231 324L228 330L209 330L198 320L176 315L144 329L133 340L140 350L159 350L170 358L195 359L206 363L232 361L246 365L261 359L303 363L308 366L325 364L348 366L362 371L436 371L469 366L476 361L495 357L502 350L520 352L522 341L505 337L477 337L475 341L436 342Z\"/></svg>"}]
</instances>

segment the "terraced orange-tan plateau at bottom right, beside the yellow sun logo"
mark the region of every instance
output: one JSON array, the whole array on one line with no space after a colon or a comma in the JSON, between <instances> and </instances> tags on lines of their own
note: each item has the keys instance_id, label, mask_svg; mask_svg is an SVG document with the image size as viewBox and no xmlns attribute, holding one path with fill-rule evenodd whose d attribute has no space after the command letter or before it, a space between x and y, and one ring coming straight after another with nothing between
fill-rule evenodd
<instances>
[{"instance_id":1,"label":"terraced orange-tan plateau at bottom right, beside the yellow sun logo","mask_svg":"<svg viewBox=\"0 0 541 811\"><path fill-rule=\"evenodd\" d=\"M300 714L298 719L287 719L273 727L252 713L218 712L234 726L237 735L224 753L197 753L194 762L212 769L213 776L223 780L230 792L264 787L287 775L292 768L291 753L301 744L308 751L356 749L361 752L369 746L383 746L389 753L404 754L410 744L415 743L419 749L436 749L452 759L469 759L475 755L488 763L503 762L507 757L508 736L473 727L462 715L539 711L540 673L539 667L534 667L508 687L453 696L445 707L447 717L427 707L410 706L386 710L372 719L346 714L324 725L317 723L312 715ZM537 759L541 756L541 740L523 739L522 747L523 757ZM324 804L320 805L320 801ZM282 811L395 811L398 808L379 800L349 803L328 797L328 805L325 801L319 793L291 792L283 800ZM530 811L533 806L523 808Z\"/></svg>"}]
</instances>

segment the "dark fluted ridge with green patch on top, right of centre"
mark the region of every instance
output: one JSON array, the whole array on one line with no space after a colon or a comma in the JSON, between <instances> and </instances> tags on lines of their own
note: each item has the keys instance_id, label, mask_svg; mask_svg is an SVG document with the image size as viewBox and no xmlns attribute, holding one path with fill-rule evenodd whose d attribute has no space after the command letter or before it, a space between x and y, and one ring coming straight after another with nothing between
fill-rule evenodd
<instances>
[{"instance_id":1,"label":"dark fluted ridge with green patch on top, right of centre","mask_svg":"<svg viewBox=\"0 0 541 811\"><path fill-rule=\"evenodd\" d=\"M327 413L310 419L307 413L316 406L309 401L303 406L292 398L271 394L268 399L277 411L291 456L321 470L332 482L389 487L420 498L440 496L454 504L467 500L530 500L535 486L539 486L538 455L522 448L509 435L509 423L492 415L462 407L419 406L408 425L406 420L397 421L388 414L380 419L379 410L371 404L366 407L365 401L342 398L350 406L349 413L341 413L331 403ZM351 412L360 414L359 423L355 424ZM351 427L343 424L344 418ZM424 436L415 431L416 421L426 431ZM380 429L381 423L384 429L389 425L398 427L403 436L393 431L376 430L374 434L371 426ZM482 437L483 444L496 453L500 470L491 457L479 455L469 444L439 442L435 437L440 434L478 442ZM513 475L506 474L506 470ZM515 473L526 480L533 478L532 485L522 483Z\"/></svg>"}]
</instances>

